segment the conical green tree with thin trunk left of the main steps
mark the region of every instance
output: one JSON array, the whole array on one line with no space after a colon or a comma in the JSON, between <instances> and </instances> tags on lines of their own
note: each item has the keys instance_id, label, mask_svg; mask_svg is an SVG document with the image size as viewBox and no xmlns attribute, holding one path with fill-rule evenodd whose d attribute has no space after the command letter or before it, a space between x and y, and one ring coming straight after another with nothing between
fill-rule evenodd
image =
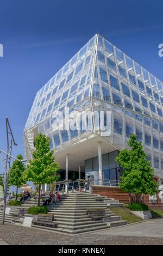
<instances>
[{"instance_id":1,"label":"conical green tree with thin trunk left of the main steps","mask_svg":"<svg viewBox=\"0 0 163 256\"><path fill-rule=\"evenodd\" d=\"M52 184L58 180L56 172L59 170L59 164L55 162L54 150L50 150L49 138L39 133L35 138L35 151L33 159L29 161L26 170L26 179L39 185L38 205L40 205L41 184Z\"/></svg>"}]
</instances>

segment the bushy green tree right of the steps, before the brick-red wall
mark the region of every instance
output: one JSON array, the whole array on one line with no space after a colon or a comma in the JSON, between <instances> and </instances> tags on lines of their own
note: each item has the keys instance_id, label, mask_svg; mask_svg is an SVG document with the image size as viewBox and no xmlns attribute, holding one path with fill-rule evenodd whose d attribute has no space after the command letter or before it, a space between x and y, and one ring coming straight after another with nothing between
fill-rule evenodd
<instances>
[{"instance_id":1,"label":"bushy green tree right of the steps, before the brick-red wall","mask_svg":"<svg viewBox=\"0 0 163 256\"><path fill-rule=\"evenodd\" d=\"M130 203L143 203L143 194L155 194L158 184L153 180L154 170L150 161L146 160L142 143L137 142L136 138L136 135L130 136L128 145L131 149L123 149L116 161L123 169L121 190L129 193Z\"/></svg>"}]
</instances>

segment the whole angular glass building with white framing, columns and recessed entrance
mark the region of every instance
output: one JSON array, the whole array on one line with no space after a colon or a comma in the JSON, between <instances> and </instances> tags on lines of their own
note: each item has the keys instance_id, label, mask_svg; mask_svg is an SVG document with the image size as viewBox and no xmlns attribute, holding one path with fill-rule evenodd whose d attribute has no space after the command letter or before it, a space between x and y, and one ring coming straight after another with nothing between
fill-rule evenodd
<instances>
[{"instance_id":1,"label":"whole angular glass building with white framing, columns and recessed entrance","mask_svg":"<svg viewBox=\"0 0 163 256\"><path fill-rule=\"evenodd\" d=\"M154 168L163 177L162 82L117 47L96 34L35 96L24 128L24 149L29 160L34 137L50 138L61 179L91 176L95 181L119 180L118 151L128 148L136 133ZM90 111L92 129L60 129L56 113ZM110 113L108 136L95 129L94 111Z\"/></svg>"}]
</instances>

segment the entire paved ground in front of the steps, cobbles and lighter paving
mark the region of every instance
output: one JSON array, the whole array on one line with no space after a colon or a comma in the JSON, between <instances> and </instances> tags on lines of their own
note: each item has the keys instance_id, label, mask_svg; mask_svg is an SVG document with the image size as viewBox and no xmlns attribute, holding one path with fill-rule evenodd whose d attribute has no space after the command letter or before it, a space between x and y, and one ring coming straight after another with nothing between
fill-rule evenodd
<instances>
[{"instance_id":1,"label":"entire paved ground in front of the steps, cobbles and lighter paving","mask_svg":"<svg viewBox=\"0 0 163 256\"><path fill-rule=\"evenodd\" d=\"M79 235L5 224L0 237L0 245L163 245L163 218Z\"/></svg>"}]
</instances>

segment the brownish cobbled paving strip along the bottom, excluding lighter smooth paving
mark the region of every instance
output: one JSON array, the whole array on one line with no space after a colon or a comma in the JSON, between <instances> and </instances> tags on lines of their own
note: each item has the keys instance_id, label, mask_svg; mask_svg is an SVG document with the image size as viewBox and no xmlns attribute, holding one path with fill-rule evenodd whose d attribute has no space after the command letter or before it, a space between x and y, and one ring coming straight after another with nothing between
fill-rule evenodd
<instances>
[{"instance_id":1,"label":"brownish cobbled paving strip along the bottom, excluding lighter smooth paving","mask_svg":"<svg viewBox=\"0 0 163 256\"><path fill-rule=\"evenodd\" d=\"M0 225L0 237L10 245L163 245L163 237L102 235L97 232L70 236L11 224Z\"/></svg>"}]
</instances>

